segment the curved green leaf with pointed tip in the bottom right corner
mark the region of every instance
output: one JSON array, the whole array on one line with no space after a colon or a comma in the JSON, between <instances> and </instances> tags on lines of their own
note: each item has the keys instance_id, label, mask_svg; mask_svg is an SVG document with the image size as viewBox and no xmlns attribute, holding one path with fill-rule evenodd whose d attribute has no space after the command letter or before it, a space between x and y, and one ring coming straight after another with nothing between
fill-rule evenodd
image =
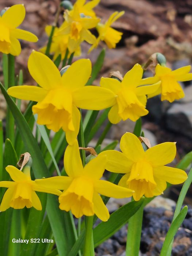
<instances>
[{"instance_id":1,"label":"curved green leaf with pointed tip in the bottom right corner","mask_svg":"<svg viewBox=\"0 0 192 256\"><path fill-rule=\"evenodd\" d=\"M184 221L184 219L187 215L187 211L188 211L188 207L184 206L183 209L181 210L181 212L178 214L178 216L173 221L173 223L170 225L170 228L168 230L168 233L166 234L166 237L165 237L165 240L163 243L163 247L161 249L160 256L166 255L171 241L173 240L174 236L177 233L177 230L179 229L179 227L181 226L182 222Z\"/></svg>"}]
</instances>

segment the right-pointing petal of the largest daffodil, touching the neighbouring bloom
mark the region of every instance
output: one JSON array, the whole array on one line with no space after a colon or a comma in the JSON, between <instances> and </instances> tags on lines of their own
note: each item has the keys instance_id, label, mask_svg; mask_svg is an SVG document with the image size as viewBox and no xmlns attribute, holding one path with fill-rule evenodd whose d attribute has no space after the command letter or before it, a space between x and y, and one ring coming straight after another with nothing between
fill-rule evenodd
<instances>
[{"instance_id":1,"label":"right-pointing petal of the largest daffodil, touching the neighbouring bloom","mask_svg":"<svg viewBox=\"0 0 192 256\"><path fill-rule=\"evenodd\" d=\"M79 108L101 110L115 104L115 94L98 86L85 86L73 92L73 102Z\"/></svg>"}]
</instances>

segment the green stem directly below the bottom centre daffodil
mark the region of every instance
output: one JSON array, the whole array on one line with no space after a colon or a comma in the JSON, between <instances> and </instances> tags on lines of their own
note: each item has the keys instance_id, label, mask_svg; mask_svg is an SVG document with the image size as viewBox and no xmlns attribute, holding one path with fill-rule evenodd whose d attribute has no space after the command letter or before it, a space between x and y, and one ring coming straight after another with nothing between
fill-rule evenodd
<instances>
[{"instance_id":1,"label":"green stem directly below the bottom centre daffodil","mask_svg":"<svg viewBox=\"0 0 192 256\"><path fill-rule=\"evenodd\" d=\"M92 229L93 229L93 216L86 217L85 220L85 242L83 249L83 256L90 256L92 244Z\"/></svg>"}]
</instances>

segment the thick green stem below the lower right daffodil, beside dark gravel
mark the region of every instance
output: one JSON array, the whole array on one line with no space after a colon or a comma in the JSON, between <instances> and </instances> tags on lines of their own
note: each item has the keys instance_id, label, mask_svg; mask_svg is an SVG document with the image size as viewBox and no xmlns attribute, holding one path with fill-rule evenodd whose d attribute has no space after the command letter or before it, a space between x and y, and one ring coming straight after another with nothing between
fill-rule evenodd
<instances>
[{"instance_id":1,"label":"thick green stem below the lower right daffodil, beside dark gravel","mask_svg":"<svg viewBox=\"0 0 192 256\"><path fill-rule=\"evenodd\" d=\"M139 255L142 219L143 206L128 221L126 256Z\"/></svg>"}]
</instances>

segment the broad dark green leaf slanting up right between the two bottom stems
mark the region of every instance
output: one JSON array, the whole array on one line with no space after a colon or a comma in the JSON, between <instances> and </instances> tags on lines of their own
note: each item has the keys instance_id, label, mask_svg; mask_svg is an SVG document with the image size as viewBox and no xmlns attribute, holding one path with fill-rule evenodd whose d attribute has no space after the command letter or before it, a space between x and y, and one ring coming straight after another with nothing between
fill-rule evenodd
<instances>
[{"instance_id":1,"label":"broad dark green leaf slanting up right between the two bottom stems","mask_svg":"<svg viewBox=\"0 0 192 256\"><path fill-rule=\"evenodd\" d=\"M133 216L143 204L143 198L138 202L132 201L120 207L110 215L107 222L101 222L93 229L94 245L97 247L102 242L117 232L128 219Z\"/></svg>"}]
</instances>

